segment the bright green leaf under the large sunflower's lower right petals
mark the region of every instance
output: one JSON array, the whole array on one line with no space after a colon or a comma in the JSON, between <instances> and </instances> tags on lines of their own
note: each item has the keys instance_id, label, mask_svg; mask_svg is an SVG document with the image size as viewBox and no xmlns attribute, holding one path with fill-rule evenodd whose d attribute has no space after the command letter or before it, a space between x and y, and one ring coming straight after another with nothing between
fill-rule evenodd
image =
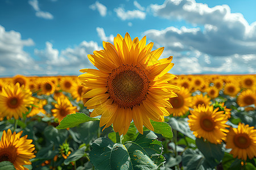
<instances>
[{"instance_id":1,"label":"bright green leaf under the large sunflower's lower right petals","mask_svg":"<svg viewBox=\"0 0 256 170\"><path fill-rule=\"evenodd\" d=\"M163 137L166 138L172 138L172 128L169 124L167 124L166 122L155 122L152 120L150 120L150 122L154 128L155 133L162 134Z\"/></svg>"}]
</instances>

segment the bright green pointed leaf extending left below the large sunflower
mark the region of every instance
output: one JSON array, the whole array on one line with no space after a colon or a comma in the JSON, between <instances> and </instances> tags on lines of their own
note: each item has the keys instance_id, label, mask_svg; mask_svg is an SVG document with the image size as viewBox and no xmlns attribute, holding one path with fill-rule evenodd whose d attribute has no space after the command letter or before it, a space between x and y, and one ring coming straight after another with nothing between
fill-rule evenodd
<instances>
[{"instance_id":1,"label":"bright green pointed leaf extending left below the large sunflower","mask_svg":"<svg viewBox=\"0 0 256 170\"><path fill-rule=\"evenodd\" d=\"M60 125L57 126L57 129L67 129L73 128L79 124L89 121L99 121L99 118L89 117L84 113L76 112L76 114L68 114L63 120L60 122Z\"/></svg>"}]
</instances>

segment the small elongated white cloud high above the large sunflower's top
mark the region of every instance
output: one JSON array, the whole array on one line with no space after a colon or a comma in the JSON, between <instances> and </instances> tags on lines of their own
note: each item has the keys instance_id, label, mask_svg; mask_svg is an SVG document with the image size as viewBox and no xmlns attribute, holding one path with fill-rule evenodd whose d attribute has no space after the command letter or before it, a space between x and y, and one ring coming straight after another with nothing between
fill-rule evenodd
<instances>
[{"instance_id":1,"label":"small elongated white cloud high above the large sunflower's top","mask_svg":"<svg viewBox=\"0 0 256 170\"><path fill-rule=\"evenodd\" d=\"M117 13L118 18L122 20L146 18L146 13L139 10L125 11L124 8L118 7L118 8L114 8L114 11Z\"/></svg>"}]
</instances>

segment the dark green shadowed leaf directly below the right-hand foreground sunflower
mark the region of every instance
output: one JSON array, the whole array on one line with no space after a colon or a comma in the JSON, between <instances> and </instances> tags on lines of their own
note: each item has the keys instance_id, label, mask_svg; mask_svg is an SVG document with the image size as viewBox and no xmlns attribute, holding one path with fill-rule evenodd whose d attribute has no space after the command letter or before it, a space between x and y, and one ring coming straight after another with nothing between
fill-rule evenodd
<instances>
[{"instance_id":1,"label":"dark green shadowed leaf directly below the right-hand foreground sunflower","mask_svg":"<svg viewBox=\"0 0 256 170\"><path fill-rule=\"evenodd\" d=\"M204 141L203 138L196 138L196 146L202 152L211 168L216 167L224 156L224 151L221 149L222 145Z\"/></svg>"}]
</instances>

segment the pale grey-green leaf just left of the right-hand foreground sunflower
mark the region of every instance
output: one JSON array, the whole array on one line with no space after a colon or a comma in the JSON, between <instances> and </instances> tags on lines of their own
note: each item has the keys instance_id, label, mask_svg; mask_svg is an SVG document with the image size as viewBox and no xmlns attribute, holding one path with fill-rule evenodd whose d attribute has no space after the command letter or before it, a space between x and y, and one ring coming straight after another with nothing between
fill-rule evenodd
<instances>
[{"instance_id":1,"label":"pale grey-green leaf just left of the right-hand foreground sunflower","mask_svg":"<svg viewBox=\"0 0 256 170\"><path fill-rule=\"evenodd\" d=\"M193 131L189 129L188 118L171 117L168 123L171 125L172 129L179 131L191 139L196 139L195 135L193 135Z\"/></svg>"}]
</instances>

